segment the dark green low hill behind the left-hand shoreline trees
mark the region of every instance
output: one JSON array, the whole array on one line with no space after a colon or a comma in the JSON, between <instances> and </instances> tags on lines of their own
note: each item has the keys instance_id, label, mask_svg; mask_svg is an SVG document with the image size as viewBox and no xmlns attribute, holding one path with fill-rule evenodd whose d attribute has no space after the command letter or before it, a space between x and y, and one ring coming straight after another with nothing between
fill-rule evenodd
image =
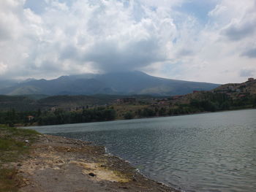
<instances>
[{"instance_id":1,"label":"dark green low hill behind the left-hand shoreline trees","mask_svg":"<svg viewBox=\"0 0 256 192\"><path fill-rule=\"evenodd\" d=\"M97 107L113 104L117 99L127 96L113 95L94 95L94 96L45 96L45 95L26 95L26 96L4 96L0 95L0 112L16 110L19 112L29 112L40 110L52 110L61 108L63 110L77 110L86 107ZM149 96L134 96L137 99Z\"/></svg>"}]
</instances>

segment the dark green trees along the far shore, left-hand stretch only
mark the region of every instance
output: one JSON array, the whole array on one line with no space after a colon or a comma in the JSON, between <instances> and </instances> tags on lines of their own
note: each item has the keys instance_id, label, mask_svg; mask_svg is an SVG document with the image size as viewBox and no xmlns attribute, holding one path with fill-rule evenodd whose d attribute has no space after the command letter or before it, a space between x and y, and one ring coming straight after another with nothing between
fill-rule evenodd
<instances>
[{"instance_id":1,"label":"dark green trees along the far shore, left-hand stretch only","mask_svg":"<svg viewBox=\"0 0 256 192\"><path fill-rule=\"evenodd\" d=\"M37 112L0 112L0 124L14 126L17 123L25 126L37 123L39 126L59 125L68 123L89 123L96 121L114 120L116 111L106 107L94 109L83 109L80 111L68 112L61 109L54 111L38 110Z\"/></svg>"}]
</instances>

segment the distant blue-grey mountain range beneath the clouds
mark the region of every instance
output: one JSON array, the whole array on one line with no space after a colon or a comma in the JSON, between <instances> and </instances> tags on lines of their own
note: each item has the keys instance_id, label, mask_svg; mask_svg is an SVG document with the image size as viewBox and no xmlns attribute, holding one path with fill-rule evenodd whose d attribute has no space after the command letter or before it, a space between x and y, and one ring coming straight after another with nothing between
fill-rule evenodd
<instances>
[{"instance_id":1,"label":"distant blue-grey mountain range beneath the clouds","mask_svg":"<svg viewBox=\"0 0 256 192\"><path fill-rule=\"evenodd\" d=\"M0 81L0 94L49 96L94 94L173 96L192 93L192 91L208 91L219 86L206 82L153 77L143 72L79 74L61 76L54 80L29 79L19 83L5 82Z\"/></svg>"}]
</instances>

